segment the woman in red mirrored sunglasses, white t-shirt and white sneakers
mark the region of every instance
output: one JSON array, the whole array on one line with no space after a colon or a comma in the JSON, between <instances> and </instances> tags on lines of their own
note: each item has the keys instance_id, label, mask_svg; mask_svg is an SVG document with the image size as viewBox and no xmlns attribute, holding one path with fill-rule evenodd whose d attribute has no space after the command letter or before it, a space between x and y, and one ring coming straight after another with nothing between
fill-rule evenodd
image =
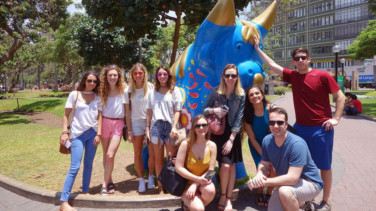
<instances>
[{"instance_id":1,"label":"woman in red mirrored sunglasses, white t-shirt and white sneakers","mask_svg":"<svg viewBox=\"0 0 376 211\"><path fill-rule=\"evenodd\" d=\"M143 64L136 63L133 65L130 69L130 74L129 87L124 90L125 120L128 131L127 139L130 143L133 143L135 169L139 177L138 192L144 193L146 191L146 181L144 179L142 151L146 128L147 98L148 93L153 90L154 86L152 83L147 82L147 71ZM154 189L155 158L153 146L148 145L148 149L150 173L147 188Z\"/></svg>"}]
</instances>

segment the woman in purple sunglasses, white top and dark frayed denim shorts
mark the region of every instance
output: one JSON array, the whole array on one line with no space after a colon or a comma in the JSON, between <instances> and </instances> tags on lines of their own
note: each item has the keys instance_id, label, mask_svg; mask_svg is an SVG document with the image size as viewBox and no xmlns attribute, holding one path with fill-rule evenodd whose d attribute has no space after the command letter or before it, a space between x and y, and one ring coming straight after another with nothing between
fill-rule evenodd
<instances>
[{"instance_id":1,"label":"woman in purple sunglasses, white top and dark frayed denim shorts","mask_svg":"<svg viewBox=\"0 0 376 211\"><path fill-rule=\"evenodd\" d=\"M158 178L163 167L164 146L166 153L173 152L176 146L171 144L172 139L177 138L177 122L182 110L182 95L179 88L172 82L172 74L168 67L161 65L155 73L155 88L149 94L148 110L146 118L146 141L153 144L155 156L155 171ZM172 104L173 107L172 107ZM171 116L173 113L174 124ZM173 125L172 125L173 124ZM158 181L159 194L163 194L161 183Z\"/></svg>"}]
</instances>

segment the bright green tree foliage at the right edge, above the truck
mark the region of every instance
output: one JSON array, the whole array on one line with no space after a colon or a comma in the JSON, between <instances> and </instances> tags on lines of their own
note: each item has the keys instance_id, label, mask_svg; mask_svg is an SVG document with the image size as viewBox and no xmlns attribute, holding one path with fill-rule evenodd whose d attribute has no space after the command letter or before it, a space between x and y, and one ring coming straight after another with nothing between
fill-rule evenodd
<instances>
[{"instance_id":1,"label":"bright green tree foliage at the right edge, above the truck","mask_svg":"<svg viewBox=\"0 0 376 211\"><path fill-rule=\"evenodd\" d=\"M368 22L368 26L357 37L358 41L354 41L347 47L347 53L354 60L363 60L373 58L376 55L376 20Z\"/></svg>"}]
</instances>

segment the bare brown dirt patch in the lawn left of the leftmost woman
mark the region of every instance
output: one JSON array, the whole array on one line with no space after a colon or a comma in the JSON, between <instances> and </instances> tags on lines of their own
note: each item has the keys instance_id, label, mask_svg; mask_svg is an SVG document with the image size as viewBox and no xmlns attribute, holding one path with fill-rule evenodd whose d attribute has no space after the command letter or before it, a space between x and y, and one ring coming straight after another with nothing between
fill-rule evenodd
<instances>
[{"instance_id":1,"label":"bare brown dirt patch in the lawn left of the leftmost woman","mask_svg":"<svg viewBox=\"0 0 376 211\"><path fill-rule=\"evenodd\" d=\"M49 127L63 127L62 119L55 114L47 112L36 112L36 111L0 111L0 113L10 113L26 116L30 119L32 123L38 125L44 125Z\"/></svg>"}]
</instances>

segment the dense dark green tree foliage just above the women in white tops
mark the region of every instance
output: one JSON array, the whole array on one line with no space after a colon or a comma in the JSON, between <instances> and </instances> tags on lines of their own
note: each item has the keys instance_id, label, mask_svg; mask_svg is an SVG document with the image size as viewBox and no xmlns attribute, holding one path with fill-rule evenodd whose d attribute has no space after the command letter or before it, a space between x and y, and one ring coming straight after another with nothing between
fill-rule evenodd
<instances>
[{"instance_id":1,"label":"dense dark green tree foliage just above the women in white tops","mask_svg":"<svg viewBox=\"0 0 376 211\"><path fill-rule=\"evenodd\" d=\"M110 23L87 15L80 15L71 26L71 37L79 56L83 57L84 66L107 66L116 64L130 69L138 62L138 42L127 41L124 28L114 27L111 32L106 28ZM150 32L158 36L158 32ZM142 59L148 70L155 69L158 61L151 48L156 42L142 39Z\"/></svg>"}]
</instances>

